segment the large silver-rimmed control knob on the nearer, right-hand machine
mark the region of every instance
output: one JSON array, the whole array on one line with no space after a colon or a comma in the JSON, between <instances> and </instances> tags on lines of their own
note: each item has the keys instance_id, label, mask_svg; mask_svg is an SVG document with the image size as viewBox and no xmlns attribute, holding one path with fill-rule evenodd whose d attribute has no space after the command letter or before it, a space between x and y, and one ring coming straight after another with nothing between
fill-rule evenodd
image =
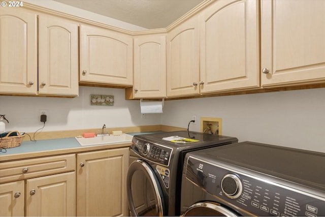
<instances>
[{"instance_id":1,"label":"large silver-rimmed control knob on the nearer, right-hand machine","mask_svg":"<svg viewBox=\"0 0 325 217\"><path fill-rule=\"evenodd\" d=\"M221 190L226 197L235 199L241 195L243 185L238 176L228 174L221 180Z\"/></svg>"}]
</instances>

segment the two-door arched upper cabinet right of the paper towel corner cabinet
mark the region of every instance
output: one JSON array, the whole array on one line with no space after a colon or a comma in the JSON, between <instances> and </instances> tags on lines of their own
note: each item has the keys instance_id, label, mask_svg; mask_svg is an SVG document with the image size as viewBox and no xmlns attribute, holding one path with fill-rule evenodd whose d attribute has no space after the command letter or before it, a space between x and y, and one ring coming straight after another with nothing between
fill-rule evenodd
<instances>
[{"instance_id":1,"label":"two-door arched upper cabinet right of the paper towel corner cabinet","mask_svg":"<svg viewBox=\"0 0 325 217\"><path fill-rule=\"evenodd\" d=\"M213 1L167 37L167 95L259 88L258 3Z\"/></svg>"}]
</instances>

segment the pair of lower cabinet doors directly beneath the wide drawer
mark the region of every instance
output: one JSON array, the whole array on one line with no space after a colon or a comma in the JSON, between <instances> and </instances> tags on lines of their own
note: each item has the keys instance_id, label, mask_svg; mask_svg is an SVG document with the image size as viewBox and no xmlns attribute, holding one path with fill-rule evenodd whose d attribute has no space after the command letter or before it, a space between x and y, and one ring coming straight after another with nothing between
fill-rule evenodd
<instances>
[{"instance_id":1,"label":"pair of lower cabinet doors directly beneath the wide drawer","mask_svg":"<svg viewBox=\"0 0 325 217\"><path fill-rule=\"evenodd\" d=\"M75 216L75 180L68 172L27 179L26 188L24 180L0 184L0 216Z\"/></svg>"}]
</instances>

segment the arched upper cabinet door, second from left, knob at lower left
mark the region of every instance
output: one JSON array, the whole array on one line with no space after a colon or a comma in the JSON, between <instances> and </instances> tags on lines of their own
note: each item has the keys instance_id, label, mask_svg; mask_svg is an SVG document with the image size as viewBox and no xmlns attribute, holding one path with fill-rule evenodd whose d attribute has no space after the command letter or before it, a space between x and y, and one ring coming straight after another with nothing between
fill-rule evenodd
<instances>
[{"instance_id":1,"label":"arched upper cabinet door, second from left, knob at lower left","mask_svg":"<svg viewBox=\"0 0 325 217\"><path fill-rule=\"evenodd\" d=\"M78 96L78 24L39 16L39 94Z\"/></svg>"}]
</instances>

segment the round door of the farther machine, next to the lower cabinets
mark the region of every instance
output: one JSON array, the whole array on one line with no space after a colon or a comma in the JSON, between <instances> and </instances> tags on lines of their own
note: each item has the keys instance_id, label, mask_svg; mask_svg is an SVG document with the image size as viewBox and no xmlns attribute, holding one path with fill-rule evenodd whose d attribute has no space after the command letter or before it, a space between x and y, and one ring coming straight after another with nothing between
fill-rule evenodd
<instances>
[{"instance_id":1,"label":"round door of the farther machine, next to the lower cabinets","mask_svg":"<svg viewBox=\"0 0 325 217\"><path fill-rule=\"evenodd\" d=\"M126 178L128 207L133 216L164 216L165 203L157 176L148 163L135 160Z\"/></svg>"}]
</instances>

